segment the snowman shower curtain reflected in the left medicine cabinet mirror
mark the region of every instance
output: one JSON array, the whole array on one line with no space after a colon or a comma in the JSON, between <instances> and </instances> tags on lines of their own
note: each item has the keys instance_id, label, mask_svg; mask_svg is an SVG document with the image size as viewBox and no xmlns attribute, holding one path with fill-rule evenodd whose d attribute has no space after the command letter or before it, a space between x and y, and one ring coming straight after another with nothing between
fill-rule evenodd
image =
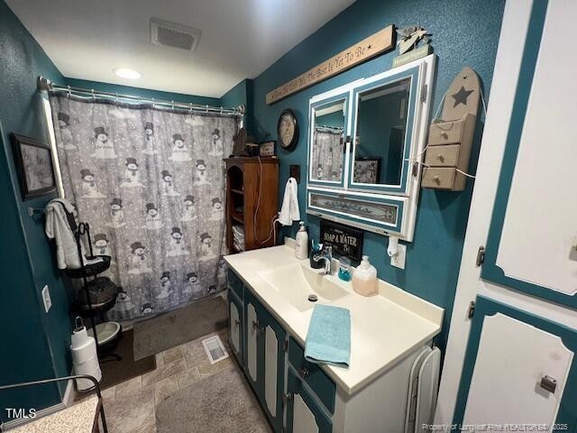
<instances>
[{"instance_id":1,"label":"snowman shower curtain reflected in the left medicine cabinet mirror","mask_svg":"<svg viewBox=\"0 0 577 433\"><path fill-rule=\"evenodd\" d=\"M313 177L316 180L341 180L343 177L342 128L316 126L313 147Z\"/></svg>"}]
</instances>

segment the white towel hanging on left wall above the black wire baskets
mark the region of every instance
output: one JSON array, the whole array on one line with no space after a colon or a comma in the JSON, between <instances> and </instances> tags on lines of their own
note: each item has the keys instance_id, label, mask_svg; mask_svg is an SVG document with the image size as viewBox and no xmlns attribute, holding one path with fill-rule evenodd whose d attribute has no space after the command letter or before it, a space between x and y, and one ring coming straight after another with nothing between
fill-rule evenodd
<instances>
[{"instance_id":1,"label":"white towel hanging on left wall above the black wire baskets","mask_svg":"<svg viewBox=\"0 0 577 433\"><path fill-rule=\"evenodd\" d=\"M44 232L50 239L56 242L56 258L59 269L78 269L80 261L78 260L78 247L74 234L69 226L69 220L66 212L60 205L64 205L70 213L74 207L66 198L54 198L46 205L46 224ZM84 256L84 245L80 243L81 251Z\"/></svg>"}]
</instances>

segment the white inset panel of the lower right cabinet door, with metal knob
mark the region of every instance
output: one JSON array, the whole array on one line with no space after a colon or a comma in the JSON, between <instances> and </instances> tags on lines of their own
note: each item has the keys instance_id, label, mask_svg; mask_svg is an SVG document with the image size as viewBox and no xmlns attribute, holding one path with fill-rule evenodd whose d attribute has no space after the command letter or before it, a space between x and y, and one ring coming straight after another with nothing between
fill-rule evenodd
<instances>
[{"instance_id":1,"label":"white inset panel of the lower right cabinet door, with metal knob","mask_svg":"<svg viewBox=\"0 0 577 433\"><path fill-rule=\"evenodd\" d=\"M502 313L485 317L463 424L553 426L572 358L559 336ZM554 392L540 386L545 375Z\"/></svg>"}]
</instances>

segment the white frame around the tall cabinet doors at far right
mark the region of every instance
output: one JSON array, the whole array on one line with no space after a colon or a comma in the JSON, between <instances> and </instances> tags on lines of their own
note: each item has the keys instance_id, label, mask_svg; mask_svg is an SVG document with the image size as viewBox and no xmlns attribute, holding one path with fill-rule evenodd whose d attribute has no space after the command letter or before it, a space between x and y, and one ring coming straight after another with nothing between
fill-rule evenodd
<instances>
[{"instance_id":1,"label":"white frame around the tall cabinet doors at far right","mask_svg":"<svg viewBox=\"0 0 577 433\"><path fill-rule=\"evenodd\" d=\"M490 86L489 111L485 119L481 153L474 180L470 218L463 244L463 256L435 411L435 424L446 426L443 431L447 432L451 431L463 360L472 325L469 306L478 294L517 309L531 311L536 316L549 318L564 326L577 328L577 315L574 310L546 299L527 296L527 293L522 291L481 280L481 267L476 265L479 247L486 245L488 239L508 137L508 124L513 112L518 71L522 61L523 50L519 50L519 47L525 46L532 5L531 0L508 1L503 13L499 48Z\"/></svg>"}]
</instances>

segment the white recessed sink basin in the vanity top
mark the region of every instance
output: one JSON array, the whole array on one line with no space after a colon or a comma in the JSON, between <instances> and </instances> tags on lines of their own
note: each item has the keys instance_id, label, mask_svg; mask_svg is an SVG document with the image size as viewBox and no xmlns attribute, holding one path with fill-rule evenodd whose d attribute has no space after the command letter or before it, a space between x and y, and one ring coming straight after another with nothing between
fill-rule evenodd
<instances>
[{"instance_id":1,"label":"white recessed sink basin in the vanity top","mask_svg":"<svg viewBox=\"0 0 577 433\"><path fill-rule=\"evenodd\" d=\"M326 279L322 272L315 272L299 263L259 272L259 276L299 311L312 309L316 303L329 304L348 296L346 290ZM316 302L308 300L310 295L316 295Z\"/></svg>"}]
</instances>

